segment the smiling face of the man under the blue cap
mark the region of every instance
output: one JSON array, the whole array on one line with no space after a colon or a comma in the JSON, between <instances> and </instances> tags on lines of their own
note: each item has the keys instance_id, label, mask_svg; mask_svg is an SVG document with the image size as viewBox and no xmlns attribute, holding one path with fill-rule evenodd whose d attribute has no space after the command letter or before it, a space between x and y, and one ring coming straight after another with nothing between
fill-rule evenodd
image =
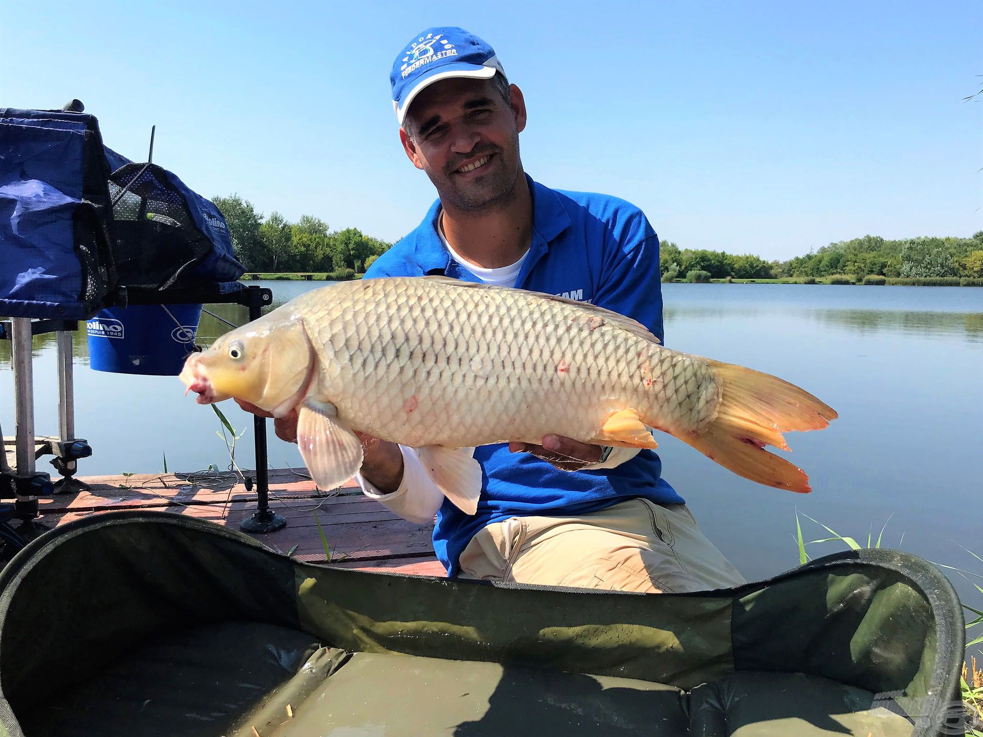
<instances>
[{"instance_id":1,"label":"smiling face of the man under the blue cap","mask_svg":"<svg viewBox=\"0 0 983 737\"><path fill-rule=\"evenodd\" d=\"M511 198L521 171L526 106L518 87L510 96L502 99L492 80L451 79L413 100L399 138L441 201L483 211Z\"/></svg>"}]
</instances>

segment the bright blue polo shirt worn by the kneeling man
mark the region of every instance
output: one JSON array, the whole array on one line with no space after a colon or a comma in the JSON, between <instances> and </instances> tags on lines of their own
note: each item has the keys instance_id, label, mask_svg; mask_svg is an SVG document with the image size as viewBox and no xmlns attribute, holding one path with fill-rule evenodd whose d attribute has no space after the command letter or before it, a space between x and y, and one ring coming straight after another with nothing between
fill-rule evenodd
<instances>
[{"instance_id":1,"label":"bright blue polo shirt worn by the kneeling man","mask_svg":"<svg viewBox=\"0 0 983 737\"><path fill-rule=\"evenodd\" d=\"M623 199L551 190L527 175L533 197L533 238L516 288L591 302L634 317L663 339L659 237L645 214ZM437 199L412 233L380 255L365 278L444 274L479 281L447 253L436 231ZM466 412L462 408L462 412ZM478 512L468 516L444 500L434 527L434 551L449 575L468 542L486 525L509 517L581 515L632 497L683 502L662 478L652 450L615 469L560 471L507 444L475 450L482 465Z\"/></svg>"}]
</instances>

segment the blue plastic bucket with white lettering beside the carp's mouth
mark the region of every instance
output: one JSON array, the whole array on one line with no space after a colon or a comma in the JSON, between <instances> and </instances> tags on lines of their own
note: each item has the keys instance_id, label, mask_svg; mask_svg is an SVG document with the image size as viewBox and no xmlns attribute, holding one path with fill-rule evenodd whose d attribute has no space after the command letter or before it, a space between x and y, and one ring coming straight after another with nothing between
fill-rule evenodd
<instances>
[{"instance_id":1,"label":"blue plastic bucket with white lettering beside the carp's mouth","mask_svg":"<svg viewBox=\"0 0 983 737\"><path fill-rule=\"evenodd\" d=\"M107 308L86 321L88 365L97 371L176 376L194 351L202 305Z\"/></svg>"}]
</instances>

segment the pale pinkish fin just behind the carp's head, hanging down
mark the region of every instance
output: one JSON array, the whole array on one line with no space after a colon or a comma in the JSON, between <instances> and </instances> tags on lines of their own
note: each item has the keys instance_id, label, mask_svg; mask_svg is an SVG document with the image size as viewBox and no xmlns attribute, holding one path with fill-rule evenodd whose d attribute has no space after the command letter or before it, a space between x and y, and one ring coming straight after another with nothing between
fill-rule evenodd
<instances>
[{"instance_id":1,"label":"pale pinkish fin just behind the carp's head, hanging down","mask_svg":"<svg viewBox=\"0 0 983 737\"><path fill-rule=\"evenodd\" d=\"M334 405L308 400L297 419L297 446L318 488L328 490L359 473L362 443L338 421Z\"/></svg>"}]
</instances>

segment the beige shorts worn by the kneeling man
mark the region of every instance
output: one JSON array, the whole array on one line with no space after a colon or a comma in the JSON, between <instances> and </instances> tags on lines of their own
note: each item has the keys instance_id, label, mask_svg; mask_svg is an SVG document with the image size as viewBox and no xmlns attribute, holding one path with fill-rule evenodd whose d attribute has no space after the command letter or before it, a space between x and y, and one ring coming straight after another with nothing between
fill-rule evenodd
<instances>
[{"instance_id":1,"label":"beige shorts worn by the kneeling man","mask_svg":"<svg viewBox=\"0 0 983 737\"><path fill-rule=\"evenodd\" d=\"M652 594L746 583L685 504L634 498L579 517L511 517L461 553L461 578Z\"/></svg>"}]
</instances>

